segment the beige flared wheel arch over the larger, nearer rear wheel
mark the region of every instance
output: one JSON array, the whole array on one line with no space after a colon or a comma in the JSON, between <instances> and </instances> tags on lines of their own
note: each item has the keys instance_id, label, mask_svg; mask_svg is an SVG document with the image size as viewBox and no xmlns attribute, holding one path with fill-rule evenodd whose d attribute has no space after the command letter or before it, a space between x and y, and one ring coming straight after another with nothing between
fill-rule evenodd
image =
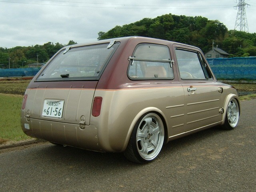
<instances>
[{"instance_id":1,"label":"beige flared wheel arch over the larger, nearer rear wheel","mask_svg":"<svg viewBox=\"0 0 256 192\"><path fill-rule=\"evenodd\" d=\"M128 145L128 142L130 140L130 136L132 134L132 130L134 129L134 126L136 125L136 123L138 122L138 120L146 113L148 112L152 112L152 113L156 113L162 120L162 123L164 124L164 144L167 143L168 141L168 128L167 128L167 120L166 120L166 116L164 115L164 113L162 112L162 110L156 108L156 107L148 107L148 108L144 108L143 110L141 110L140 112L138 112L138 114L135 116L135 118L132 120L132 123L130 124L125 142L124 142L124 146L122 151L124 151Z\"/></svg>"}]
</instances>

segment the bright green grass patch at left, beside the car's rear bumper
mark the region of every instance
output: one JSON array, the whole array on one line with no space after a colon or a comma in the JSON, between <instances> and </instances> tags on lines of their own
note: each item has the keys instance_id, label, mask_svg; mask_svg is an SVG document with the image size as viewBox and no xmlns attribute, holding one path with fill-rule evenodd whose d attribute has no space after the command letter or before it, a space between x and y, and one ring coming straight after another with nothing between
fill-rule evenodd
<instances>
[{"instance_id":1,"label":"bright green grass patch at left, beside the car's rear bumper","mask_svg":"<svg viewBox=\"0 0 256 192\"><path fill-rule=\"evenodd\" d=\"M0 93L0 143L8 140L18 141L26 136L20 126L20 110L23 96Z\"/></svg>"}]
</instances>

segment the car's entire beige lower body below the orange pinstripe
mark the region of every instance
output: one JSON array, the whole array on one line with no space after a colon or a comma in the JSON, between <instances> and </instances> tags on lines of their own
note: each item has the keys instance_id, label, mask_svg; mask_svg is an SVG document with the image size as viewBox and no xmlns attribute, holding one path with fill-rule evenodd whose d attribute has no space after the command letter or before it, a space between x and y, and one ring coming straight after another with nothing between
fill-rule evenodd
<instances>
[{"instance_id":1,"label":"car's entire beige lower body below the orange pinstripe","mask_svg":"<svg viewBox=\"0 0 256 192\"><path fill-rule=\"evenodd\" d=\"M26 113L24 113L22 115L23 125L29 124L29 127L33 129L30 130L24 128L24 126L22 127L26 134L30 135L32 131L33 134L30 136L44 138L51 142L102 152L122 152L127 146L130 134L137 120L146 112L153 111L161 114L164 119L163 121L166 123L168 140L173 140L224 122L225 117L219 113L219 110L223 106L224 111L226 111L227 104L224 105L224 103L227 102L220 102L216 98L209 97L210 102L209 100L202 102L209 104L202 107L198 106L201 103L196 104L195 108L198 111L195 112L193 111L194 107L190 108L191 102L184 104L184 90L187 89L187 86L184 86L183 89L182 86L178 85L160 88L96 90L95 96L102 96L104 101L102 102L100 116L91 116L90 118L86 116L85 112L82 112L82 109L91 108L91 106L86 106L86 102L84 102L86 99L81 100L81 98L82 96L88 96L89 93L94 94L92 90L51 90L52 94L50 92L44 94L45 90L27 90L28 99L32 100L31 97L35 99L33 103L31 102L32 106L28 104L26 108L31 108L32 114L37 115L30 116L28 121L28 118L25 117ZM224 92L229 92L229 87L221 87L224 88ZM215 88L215 86L210 86L210 88ZM43 106L42 100L44 98L51 98L49 95L53 96L56 93L58 94L54 98L60 98L64 100L64 105L66 104L63 117L58 119L40 117ZM141 94L144 94L145 97L141 97ZM65 110L70 106L66 102L66 100L69 100L70 95L76 98L74 100L80 101L72 105L72 107L76 106L76 110ZM129 97L129 95L132 95L132 97ZM191 96L197 98L194 101L195 103L198 100L201 101L208 98L205 97L205 94L200 98L200 93L197 96L190 95L189 97L191 98ZM175 99L172 99L174 97ZM228 94L224 100L230 100L231 98L238 99L235 94ZM159 103L159 99L162 101L161 103ZM150 103L150 107L148 103ZM216 103L220 104L220 106L216 107ZM199 114L204 114L204 116L199 116ZM80 116L82 115L86 116L85 129L79 127ZM66 116L73 116L73 118L67 119ZM53 119L54 121L52 121Z\"/></svg>"}]
</instances>

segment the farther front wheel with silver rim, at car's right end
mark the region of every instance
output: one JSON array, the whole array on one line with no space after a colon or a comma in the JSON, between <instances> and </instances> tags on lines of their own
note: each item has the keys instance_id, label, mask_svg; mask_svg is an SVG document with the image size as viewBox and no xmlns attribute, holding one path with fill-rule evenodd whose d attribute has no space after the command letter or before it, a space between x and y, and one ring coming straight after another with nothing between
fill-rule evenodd
<instances>
[{"instance_id":1,"label":"farther front wheel with silver rim, at car's right end","mask_svg":"<svg viewBox=\"0 0 256 192\"><path fill-rule=\"evenodd\" d=\"M237 125L239 119L239 105L236 99L231 99L228 103L225 122L222 129L232 130Z\"/></svg>"}]
</instances>

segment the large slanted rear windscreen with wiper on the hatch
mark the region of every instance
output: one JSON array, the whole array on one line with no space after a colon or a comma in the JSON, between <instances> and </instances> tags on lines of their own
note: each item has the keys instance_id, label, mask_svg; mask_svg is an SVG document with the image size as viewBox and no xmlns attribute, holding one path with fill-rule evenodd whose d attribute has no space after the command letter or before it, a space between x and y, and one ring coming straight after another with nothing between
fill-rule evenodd
<instances>
[{"instance_id":1,"label":"large slanted rear windscreen with wiper on the hatch","mask_svg":"<svg viewBox=\"0 0 256 192\"><path fill-rule=\"evenodd\" d=\"M98 80L118 43L62 50L41 72L36 81Z\"/></svg>"}]
</instances>

